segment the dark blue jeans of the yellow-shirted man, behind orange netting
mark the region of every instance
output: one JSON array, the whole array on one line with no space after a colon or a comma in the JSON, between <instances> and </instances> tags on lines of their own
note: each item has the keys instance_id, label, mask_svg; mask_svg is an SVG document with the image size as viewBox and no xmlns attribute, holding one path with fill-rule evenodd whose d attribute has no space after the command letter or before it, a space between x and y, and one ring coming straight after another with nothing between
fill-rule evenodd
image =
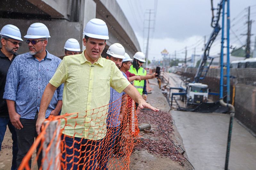
<instances>
[{"instance_id":1,"label":"dark blue jeans of the yellow-shirted man, behind orange netting","mask_svg":"<svg viewBox=\"0 0 256 170\"><path fill-rule=\"evenodd\" d=\"M62 134L61 169L95 170L101 141Z\"/></svg>"}]
</instances>

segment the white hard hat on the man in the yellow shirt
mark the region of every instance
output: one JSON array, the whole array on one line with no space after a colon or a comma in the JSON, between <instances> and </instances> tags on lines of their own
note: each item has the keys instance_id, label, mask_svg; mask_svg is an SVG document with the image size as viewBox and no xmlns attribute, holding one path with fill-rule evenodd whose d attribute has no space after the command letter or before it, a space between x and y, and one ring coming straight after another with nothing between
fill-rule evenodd
<instances>
[{"instance_id":1,"label":"white hard hat on the man in the yellow shirt","mask_svg":"<svg viewBox=\"0 0 256 170\"><path fill-rule=\"evenodd\" d=\"M89 20L86 24L83 34L91 38L108 40L108 27L106 23L98 18Z\"/></svg>"}]
</instances>

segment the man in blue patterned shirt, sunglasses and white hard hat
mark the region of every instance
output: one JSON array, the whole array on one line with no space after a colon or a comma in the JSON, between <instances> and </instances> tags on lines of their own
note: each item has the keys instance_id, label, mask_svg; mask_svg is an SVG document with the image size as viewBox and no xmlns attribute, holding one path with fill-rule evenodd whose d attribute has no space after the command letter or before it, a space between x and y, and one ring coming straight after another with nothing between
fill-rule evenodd
<instances>
[{"instance_id":1,"label":"man in blue patterned shirt, sunglasses and white hard hat","mask_svg":"<svg viewBox=\"0 0 256 170\"><path fill-rule=\"evenodd\" d=\"M17 132L19 148L17 166L20 166L23 157L34 143L34 138L37 137L36 121L41 97L45 86L61 63L60 58L45 49L50 34L44 24L31 24L24 38L26 38L29 52L21 54L13 60L7 73L3 96L7 101L12 125ZM58 115L61 110L63 85L58 88L59 92L54 91L47 108L46 118L49 115ZM38 167L41 165L41 159L40 154L37 159ZM29 166L31 166L31 160Z\"/></svg>"}]
</instances>

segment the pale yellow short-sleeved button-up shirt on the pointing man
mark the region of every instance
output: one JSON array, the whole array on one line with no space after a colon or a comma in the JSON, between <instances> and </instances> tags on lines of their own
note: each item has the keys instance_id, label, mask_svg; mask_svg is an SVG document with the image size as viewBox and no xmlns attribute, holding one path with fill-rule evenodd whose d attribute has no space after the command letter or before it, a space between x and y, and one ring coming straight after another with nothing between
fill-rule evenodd
<instances>
[{"instance_id":1,"label":"pale yellow short-sleeved button-up shirt on the pointing man","mask_svg":"<svg viewBox=\"0 0 256 170\"><path fill-rule=\"evenodd\" d=\"M130 83L114 62L100 57L91 64L84 52L65 56L49 82L64 83L61 115L78 112L62 121L63 133L99 140L106 135L110 87L122 92Z\"/></svg>"}]
</instances>

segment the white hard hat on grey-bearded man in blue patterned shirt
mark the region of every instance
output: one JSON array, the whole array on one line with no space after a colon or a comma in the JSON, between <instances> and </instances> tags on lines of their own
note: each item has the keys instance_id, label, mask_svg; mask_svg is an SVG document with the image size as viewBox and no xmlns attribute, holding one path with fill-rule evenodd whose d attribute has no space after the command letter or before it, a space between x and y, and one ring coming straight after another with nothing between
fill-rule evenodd
<instances>
[{"instance_id":1,"label":"white hard hat on grey-bearded man in blue patterned shirt","mask_svg":"<svg viewBox=\"0 0 256 170\"><path fill-rule=\"evenodd\" d=\"M31 24L27 31L27 35L24 36L24 38L32 38L32 39L50 38L50 37L51 36L47 26L39 22Z\"/></svg>"}]
</instances>

